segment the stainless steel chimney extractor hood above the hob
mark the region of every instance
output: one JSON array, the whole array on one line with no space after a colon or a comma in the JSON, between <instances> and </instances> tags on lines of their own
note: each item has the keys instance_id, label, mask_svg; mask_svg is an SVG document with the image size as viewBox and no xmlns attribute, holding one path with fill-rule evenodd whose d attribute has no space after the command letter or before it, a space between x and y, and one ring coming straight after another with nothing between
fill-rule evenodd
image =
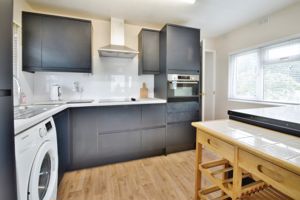
<instances>
[{"instance_id":1,"label":"stainless steel chimney extractor hood above the hob","mask_svg":"<svg viewBox=\"0 0 300 200\"><path fill-rule=\"evenodd\" d=\"M134 58L139 52L125 46L124 20L111 18L111 44L98 50L103 57Z\"/></svg>"}]
</instances>

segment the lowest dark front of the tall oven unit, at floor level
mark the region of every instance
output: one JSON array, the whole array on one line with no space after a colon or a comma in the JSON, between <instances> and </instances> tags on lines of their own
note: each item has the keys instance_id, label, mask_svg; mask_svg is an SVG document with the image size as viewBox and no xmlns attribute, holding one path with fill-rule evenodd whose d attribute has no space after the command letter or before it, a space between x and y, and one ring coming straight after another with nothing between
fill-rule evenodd
<instances>
[{"instance_id":1,"label":"lowest dark front of the tall oven unit, at floor level","mask_svg":"<svg viewBox=\"0 0 300 200\"><path fill-rule=\"evenodd\" d=\"M167 153L193 149L196 142L196 129L191 122L167 125Z\"/></svg>"}]
</instances>

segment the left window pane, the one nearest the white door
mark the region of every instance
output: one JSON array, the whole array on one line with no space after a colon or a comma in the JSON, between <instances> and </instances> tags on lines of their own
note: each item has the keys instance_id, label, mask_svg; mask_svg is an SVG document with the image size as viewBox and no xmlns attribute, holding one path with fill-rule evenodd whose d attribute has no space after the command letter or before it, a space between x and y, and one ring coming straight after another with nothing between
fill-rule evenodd
<instances>
[{"instance_id":1,"label":"left window pane, the one nearest the white door","mask_svg":"<svg viewBox=\"0 0 300 200\"><path fill-rule=\"evenodd\" d=\"M237 56L235 59L235 96L255 99L256 77L259 67L257 52Z\"/></svg>"}]
</instances>

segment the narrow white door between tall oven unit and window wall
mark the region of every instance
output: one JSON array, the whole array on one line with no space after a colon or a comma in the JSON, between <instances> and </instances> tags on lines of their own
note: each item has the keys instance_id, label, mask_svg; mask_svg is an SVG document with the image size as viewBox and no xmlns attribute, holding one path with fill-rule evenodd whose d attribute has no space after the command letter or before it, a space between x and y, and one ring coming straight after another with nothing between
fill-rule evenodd
<instances>
[{"instance_id":1,"label":"narrow white door between tall oven unit and window wall","mask_svg":"<svg viewBox=\"0 0 300 200\"><path fill-rule=\"evenodd\" d=\"M204 121L215 119L215 51L204 53Z\"/></svg>"}]
</instances>

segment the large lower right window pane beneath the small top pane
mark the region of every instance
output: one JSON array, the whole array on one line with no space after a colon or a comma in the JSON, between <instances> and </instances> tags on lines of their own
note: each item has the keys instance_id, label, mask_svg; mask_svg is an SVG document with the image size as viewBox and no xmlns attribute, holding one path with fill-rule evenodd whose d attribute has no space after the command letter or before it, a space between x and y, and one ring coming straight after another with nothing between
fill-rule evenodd
<instances>
[{"instance_id":1,"label":"large lower right window pane beneath the small top pane","mask_svg":"<svg viewBox=\"0 0 300 200\"><path fill-rule=\"evenodd\" d=\"M300 61L264 66L264 100L300 102Z\"/></svg>"}]
</instances>

